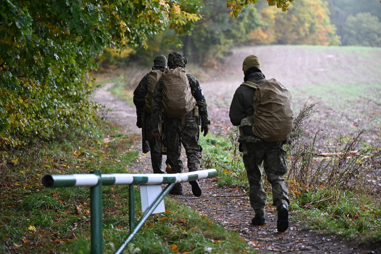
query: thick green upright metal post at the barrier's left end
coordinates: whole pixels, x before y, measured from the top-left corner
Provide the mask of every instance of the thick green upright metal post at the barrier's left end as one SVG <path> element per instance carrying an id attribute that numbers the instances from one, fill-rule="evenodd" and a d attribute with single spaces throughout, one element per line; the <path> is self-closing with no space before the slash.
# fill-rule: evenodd
<path id="1" fill-rule="evenodd" d="M 98 184 L 90 187 L 91 254 L 102 254 L 102 177 L 101 171 L 94 171 Z"/>

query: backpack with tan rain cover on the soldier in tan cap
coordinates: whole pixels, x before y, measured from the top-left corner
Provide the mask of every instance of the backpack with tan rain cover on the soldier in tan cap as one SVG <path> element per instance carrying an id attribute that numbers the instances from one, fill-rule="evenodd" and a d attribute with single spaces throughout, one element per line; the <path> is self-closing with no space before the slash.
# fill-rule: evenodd
<path id="1" fill-rule="evenodd" d="M 256 88 L 253 97 L 253 134 L 266 142 L 281 142 L 290 137 L 293 122 L 291 93 L 274 78 L 257 85 L 245 81 L 243 85 Z"/>

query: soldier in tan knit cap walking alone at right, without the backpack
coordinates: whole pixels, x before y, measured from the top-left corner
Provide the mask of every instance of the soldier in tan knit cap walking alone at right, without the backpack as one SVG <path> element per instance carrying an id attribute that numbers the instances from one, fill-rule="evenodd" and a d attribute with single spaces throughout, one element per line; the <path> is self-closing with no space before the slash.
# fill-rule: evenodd
<path id="1" fill-rule="evenodd" d="M 243 61 L 244 81 L 251 81 L 261 85 L 266 81 L 261 72 L 259 59 L 250 55 Z M 245 142 L 247 154 L 243 155 L 243 163 L 247 170 L 247 178 L 250 184 L 250 204 L 255 210 L 255 217 L 251 223 L 253 225 L 266 224 L 266 215 L 264 206 L 266 205 L 266 192 L 262 186 L 262 163 L 267 180 L 272 186 L 273 204 L 277 206 L 278 221 L 277 229 L 284 232 L 288 227 L 288 189 L 285 185 L 284 174 L 287 173 L 287 164 L 285 161 L 286 151 L 283 148 L 284 142 L 267 143 L 254 136 L 252 132 L 253 123 L 249 120 L 253 117 L 253 96 L 255 88 L 240 85 L 235 91 L 230 106 L 229 117 L 234 126 L 240 125 L 244 136 L 251 138 Z M 241 143 L 242 145 L 242 143 Z"/>

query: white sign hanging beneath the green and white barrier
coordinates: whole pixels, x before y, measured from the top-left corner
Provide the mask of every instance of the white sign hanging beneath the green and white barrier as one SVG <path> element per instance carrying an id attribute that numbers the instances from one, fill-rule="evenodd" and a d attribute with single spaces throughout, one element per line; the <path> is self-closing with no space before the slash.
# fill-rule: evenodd
<path id="1" fill-rule="evenodd" d="M 146 212 L 155 199 L 162 193 L 162 185 L 140 185 L 140 200 L 142 203 L 142 212 Z M 160 201 L 152 213 L 165 212 L 164 200 Z"/>

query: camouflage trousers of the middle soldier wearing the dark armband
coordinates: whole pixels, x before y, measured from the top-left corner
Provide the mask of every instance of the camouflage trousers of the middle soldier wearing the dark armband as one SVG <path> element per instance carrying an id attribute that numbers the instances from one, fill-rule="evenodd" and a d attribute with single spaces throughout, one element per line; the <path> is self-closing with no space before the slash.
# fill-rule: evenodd
<path id="1" fill-rule="evenodd" d="M 189 172 L 200 170 L 201 151 L 199 145 L 199 125 L 192 111 L 185 116 L 184 125 L 182 118 L 166 118 L 164 128 L 164 142 L 167 147 L 167 160 L 172 167 L 172 173 L 181 173 L 183 164 L 181 160 L 181 144 L 185 148 Z M 180 189 L 182 184 L 173 188 Z"/>

